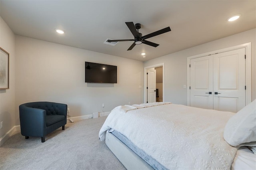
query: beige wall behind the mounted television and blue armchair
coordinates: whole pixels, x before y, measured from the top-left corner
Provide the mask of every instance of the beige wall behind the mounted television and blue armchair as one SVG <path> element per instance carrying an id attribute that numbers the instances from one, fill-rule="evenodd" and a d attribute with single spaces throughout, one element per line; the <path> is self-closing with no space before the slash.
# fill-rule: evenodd
<path id="1" fill-rule="evenodd" d="M 15 42 L 16 113 L 18 105 L 32 101 L 66 103 L 71 117 L 100 112 L 102 103 L 108 112 L 118 105 L 143 102 L 141 61 L 22 36 Z M 85 61 L 117 65 L 118 83 L 85 83 Z"/>

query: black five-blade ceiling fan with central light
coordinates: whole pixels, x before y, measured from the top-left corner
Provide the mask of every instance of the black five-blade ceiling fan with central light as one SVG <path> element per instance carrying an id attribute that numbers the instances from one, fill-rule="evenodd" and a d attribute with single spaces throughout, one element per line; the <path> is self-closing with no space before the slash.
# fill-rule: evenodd
<path id="1" fill-rule="evenodd" d="M 134 36 L 134 39 L 128 39 L 128 40 L 108 40 L 107 42 L 125 42 L 125 41 L 134 41 L 134 43 L 127 49 L 131 50 L 135 45 L 144 43 L 153 47 L 157 47 L 159 44 L 157 43 L 153 43 L 153 42 L 149 42 L 146 39 L 154 37 L 154 36 L 158 36 L 160 34 L 164 34 L 166 32 L 171 31 L 170 27 L 166 27 L 162 30 L 158 30 L 156 32 L 152 32 L 146 36 L 142 36 L 142 34 L 139 32 L 139 29 L 141 28 L 141 24 L 137 23 L 137 24 L 133 24 L 133 22 L 126 22 L 125 23 L 128 28 L 130 29 L 130 31 L 132 32 L 132 35 Z"/>

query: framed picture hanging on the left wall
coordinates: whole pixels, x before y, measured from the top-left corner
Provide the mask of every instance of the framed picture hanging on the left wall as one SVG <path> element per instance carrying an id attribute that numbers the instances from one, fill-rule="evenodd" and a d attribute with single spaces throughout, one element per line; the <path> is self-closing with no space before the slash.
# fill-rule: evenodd
<path id="1" fill-rule="evenodd" d="M 9 89 L 9 53 L 0 47 L 0 90 Z"/>

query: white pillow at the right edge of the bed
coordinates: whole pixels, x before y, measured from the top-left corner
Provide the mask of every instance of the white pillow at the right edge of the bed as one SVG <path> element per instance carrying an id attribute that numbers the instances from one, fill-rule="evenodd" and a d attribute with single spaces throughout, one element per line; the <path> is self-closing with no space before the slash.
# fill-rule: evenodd
<path id="1" fill-rule="evenodd" d="M 231 146 L 256 146 L 256 99 L 228 120 L 224 139 Z"/>

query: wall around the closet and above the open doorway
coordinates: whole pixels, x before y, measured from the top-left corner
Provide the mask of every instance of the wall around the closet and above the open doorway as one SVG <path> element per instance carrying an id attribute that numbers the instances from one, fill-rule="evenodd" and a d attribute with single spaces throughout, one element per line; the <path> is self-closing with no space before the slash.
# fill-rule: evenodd
<path id="1" fill-rule="evenodd" d="M 183 89 L 187 81 L 187 57 L 248 42 L 252 43 L 252 100 L 254 100 L 256 99 L 256 29 L 145 61 L 144 67 L 164 63 L 164 101 L 187 105 L 187 93 L 186 89 Z"/>

